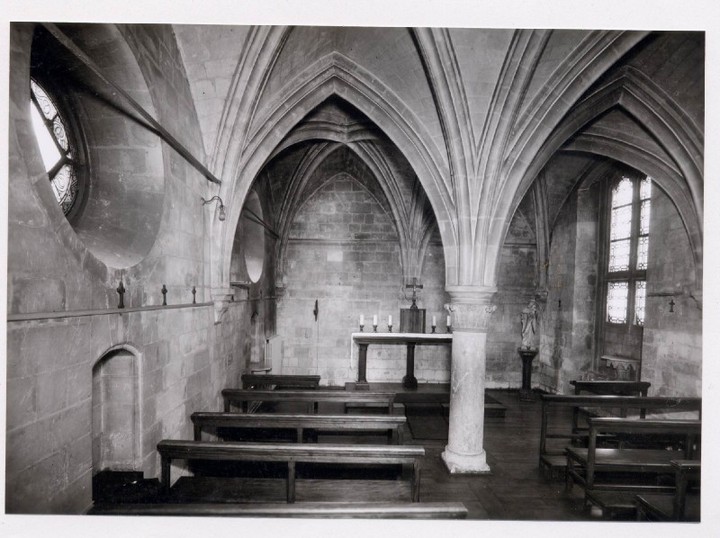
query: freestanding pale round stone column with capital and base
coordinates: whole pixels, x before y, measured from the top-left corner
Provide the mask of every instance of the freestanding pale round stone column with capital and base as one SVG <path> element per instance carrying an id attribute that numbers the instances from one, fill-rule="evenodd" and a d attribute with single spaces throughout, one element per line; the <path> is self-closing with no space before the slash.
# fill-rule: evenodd
<path id="1" fill-rule="evenodd" d="M 451 473 L 485 473 L 485 344 L 495 288 L 452 286 L 453 343 L 450 363 L 450 430 L 442 453 Z"/>

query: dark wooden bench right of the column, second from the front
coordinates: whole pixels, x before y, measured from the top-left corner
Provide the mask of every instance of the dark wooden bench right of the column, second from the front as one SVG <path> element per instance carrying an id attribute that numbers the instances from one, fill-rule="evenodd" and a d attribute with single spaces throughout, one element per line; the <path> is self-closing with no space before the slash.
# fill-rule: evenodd
<path id="1" fill-rule="evenodd" d="M 643 480 L 657 478 L 660 474 L 673 472 L 672 461 L 691 459 L 696 453 L 700 438 L 699 420 L 642 420 L 624 418 L 591 418 L 587 448 L 567 447 L 566 480 L 568 491 L 574 483 L 586 492 L 603 491 L 650 491 L 672 492 L 672 486 L 664 486 Z M 682 435 L 686 438 L 683 451 L 643 448 L 598 448 L 599 435 L 633 434 L 636 436 Z M 621 480 L 616 478 L 622 474 Z M 587 497 L 586 497 L 587 498 Z"/>

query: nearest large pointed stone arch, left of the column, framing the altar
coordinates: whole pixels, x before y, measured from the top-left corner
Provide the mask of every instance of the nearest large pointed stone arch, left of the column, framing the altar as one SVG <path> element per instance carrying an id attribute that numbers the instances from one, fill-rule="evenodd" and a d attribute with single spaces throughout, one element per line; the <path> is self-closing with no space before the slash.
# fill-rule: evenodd
<path id="1" fill-rule="evenodd" d="M 294 77 L 258 118 L 247 143 L 231 137 L 223 166 L 221 196 L 228 200 L 228 218 L 213 228 L 213 287 L 227 287 L 233 231 L 242 201 L 273 150 L 303 117 L 330 96 L 338 96 L 373 121 L 400 149 L 417 174 L 435 212 L 447 260 L 454 260 L 457 234 L 454 202 L 443 177 L 442 155 L 415 114 L 392 90 L 346 56 L 331 53 Z M 234 146 L 232 144 L 235 144 Z M 454 268 L 448 268 L 450 273 Z"/>

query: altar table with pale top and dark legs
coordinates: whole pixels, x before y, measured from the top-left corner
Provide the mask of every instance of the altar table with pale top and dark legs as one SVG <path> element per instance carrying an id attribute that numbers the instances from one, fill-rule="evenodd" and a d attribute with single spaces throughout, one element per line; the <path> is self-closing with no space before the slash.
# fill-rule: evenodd
<path id="1" fill-rule="evenodd" d="M 415 377 L 415 346 L 452 344 L 452 333 L 352 333 L 352 341 L 358 345 L 358 380 L 356 390 L 368 390 L 367 382 L 367 348 L 370 344 L 404 345 L 407 346 L 406 370 L 403 386 L 408 389 L 417 388 Z"/>

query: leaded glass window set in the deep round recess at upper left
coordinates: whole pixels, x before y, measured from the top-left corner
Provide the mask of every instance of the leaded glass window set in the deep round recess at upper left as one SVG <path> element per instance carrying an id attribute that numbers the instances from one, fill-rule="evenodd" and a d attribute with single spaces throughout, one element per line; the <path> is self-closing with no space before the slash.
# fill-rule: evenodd
<path id="1" fill-rule="evenodd" d="M 35 137 L 55 198 L 65 215 L 79 198 L 77 145 L 57 101 L 34 79 L 30 79 L 31 114 Z"/>

